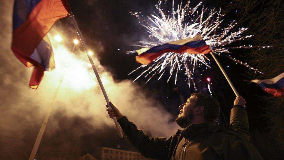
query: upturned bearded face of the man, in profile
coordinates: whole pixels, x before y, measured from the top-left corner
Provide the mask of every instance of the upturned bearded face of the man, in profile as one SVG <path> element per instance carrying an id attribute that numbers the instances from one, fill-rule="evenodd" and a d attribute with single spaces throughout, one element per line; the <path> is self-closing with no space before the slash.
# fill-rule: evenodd
<path id="1" fill-rule="evenodd" d="M 193 108 L 195 107 L 195 99 L 194 96 L 189 97 L 185 104 L 180 105 L 178 108 L 180 109 L 180 114 L 175 119 L 177 124 L 186 128 L 191 124 L 192 119 L 194 119 Z"/>

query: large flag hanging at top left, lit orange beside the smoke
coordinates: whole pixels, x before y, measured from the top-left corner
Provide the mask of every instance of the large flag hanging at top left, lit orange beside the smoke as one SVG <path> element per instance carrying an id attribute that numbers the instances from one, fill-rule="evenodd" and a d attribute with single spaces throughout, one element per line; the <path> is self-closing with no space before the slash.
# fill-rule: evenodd
<path id="1" fill-rule="evenodd" d="M 67 0 L 15 0 L 12 50 L 26 66 L 34 66 L 29 87 L 37 89 L 44 71 L 55 68 L 47 32 L 71 12 Z"/>

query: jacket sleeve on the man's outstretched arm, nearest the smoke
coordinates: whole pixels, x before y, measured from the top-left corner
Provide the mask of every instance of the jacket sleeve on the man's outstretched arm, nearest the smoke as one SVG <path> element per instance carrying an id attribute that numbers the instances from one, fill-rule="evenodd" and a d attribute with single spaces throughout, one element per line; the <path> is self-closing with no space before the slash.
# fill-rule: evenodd
<path id="1" fill-rule="evenodd" d="M 152 159 L 168 158 L 171 137 L 148 137 L 143 131 L 137 129 L 134 123 L 129 122 L 125 116 L 118 119 L 118 123 L 132 145 L 134 145 L 144 157 Z"/>

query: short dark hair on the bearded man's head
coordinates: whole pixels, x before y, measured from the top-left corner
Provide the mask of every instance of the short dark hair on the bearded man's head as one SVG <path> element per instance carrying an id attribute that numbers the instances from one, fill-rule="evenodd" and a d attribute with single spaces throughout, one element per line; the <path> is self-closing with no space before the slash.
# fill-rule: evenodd
<path id="1" fill-rule="evenodd" d="M 212 96 L 204 93 L 193 93 L 195 106 L 204 107 L 204 118 L 207 122 L 215 122 L 220 114 L 220 105 Z"/>

